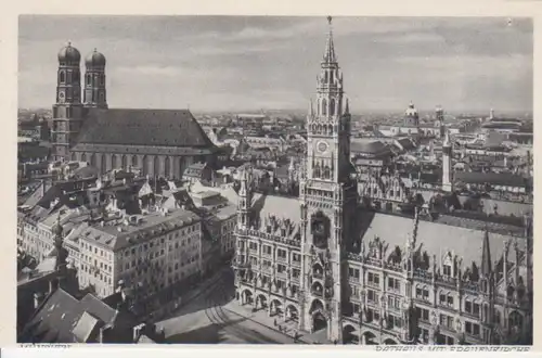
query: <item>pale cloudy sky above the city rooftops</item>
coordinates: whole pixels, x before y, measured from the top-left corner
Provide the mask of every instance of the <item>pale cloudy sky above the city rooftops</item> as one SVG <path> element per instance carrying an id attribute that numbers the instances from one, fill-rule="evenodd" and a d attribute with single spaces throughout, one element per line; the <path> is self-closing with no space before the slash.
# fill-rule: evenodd
<path id="1" fill-rule="evenodd" d="M 354 113 L 411 100 L 532 111 L 530 20 L 335 17 L 333 29 Z M 326 33 L 324 17 L 22 16 L 20 106 L 52 105 L 69 40 L 82 57 L 105 54 L 109 107 L 306 108 Z"/>

